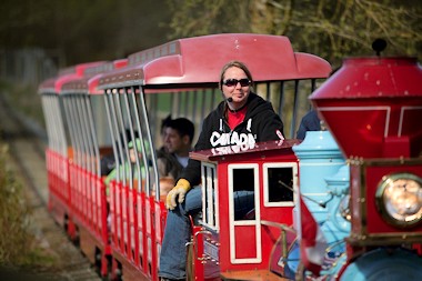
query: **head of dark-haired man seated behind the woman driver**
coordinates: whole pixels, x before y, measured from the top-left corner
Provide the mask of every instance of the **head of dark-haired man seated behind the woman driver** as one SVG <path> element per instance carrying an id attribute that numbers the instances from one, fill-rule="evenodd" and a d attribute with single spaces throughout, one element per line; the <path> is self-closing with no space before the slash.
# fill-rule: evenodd
<path id="1" fill-rule="evenodd" d="M 185 118 L 171 120 L 167 124 L 164 145 L 170 153 L 187 154 L 194 136 L 193 123 Z"/>

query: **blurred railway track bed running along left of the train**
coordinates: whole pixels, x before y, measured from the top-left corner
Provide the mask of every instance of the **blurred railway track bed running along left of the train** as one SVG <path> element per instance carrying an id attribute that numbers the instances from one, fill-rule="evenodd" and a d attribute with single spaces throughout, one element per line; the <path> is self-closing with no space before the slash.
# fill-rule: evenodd
<path id="1" fill-rule="evenodd" d="M 64 231 L 48 212 L 46 143 L 42 140 L 42 130 L 14 112 L 1 93 L 0 130 L 3 141 L 10 148 L 13 160 L 11 167 L 22 179 L 28 194 L 27 200 L 32 209 L 31 231 L 53 259 L 53 265 L 42 269 L 42 272 L 37 269 L 0 269 L 0 280 L 101 280 L 88 259 L 68 240 Z"/>

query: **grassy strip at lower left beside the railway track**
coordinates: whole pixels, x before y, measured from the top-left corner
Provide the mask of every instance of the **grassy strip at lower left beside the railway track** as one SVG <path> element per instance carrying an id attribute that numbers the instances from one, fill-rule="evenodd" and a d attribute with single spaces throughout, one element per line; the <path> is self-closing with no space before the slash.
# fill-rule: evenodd
<path id="1" fill-rule="evenodd" d="M 54 257 L 36 237 L 33 210 L 10 162 L 9 145 L 0 141 L 0 269 L 44 271 L 54 268 Z"/>

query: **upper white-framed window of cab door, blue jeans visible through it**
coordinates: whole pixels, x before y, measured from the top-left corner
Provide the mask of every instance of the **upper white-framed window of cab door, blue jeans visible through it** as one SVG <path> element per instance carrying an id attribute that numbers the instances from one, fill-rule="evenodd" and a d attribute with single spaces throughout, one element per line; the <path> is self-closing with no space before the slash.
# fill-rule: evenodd
<path id="1" fill-rule="evenodd" d="M 234 221 L 255 219 L 258 183 L 258 164 L 229 165 L 229 208 Z"/>

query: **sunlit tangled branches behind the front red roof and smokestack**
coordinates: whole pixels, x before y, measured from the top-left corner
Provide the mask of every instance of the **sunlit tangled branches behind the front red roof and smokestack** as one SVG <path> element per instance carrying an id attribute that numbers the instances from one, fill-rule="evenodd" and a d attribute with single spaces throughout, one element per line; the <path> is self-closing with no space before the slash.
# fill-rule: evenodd
<path id="1" fill-rule="evenodd" d="M 290 38 L 297 51 L 315 53 L 334 68 L 344 57 L 373 56 L 383 38 L 385 56 L 422 59 L 422 2 L 399 0 L 169 0 L 172 38 L 257 32 Z"/>

